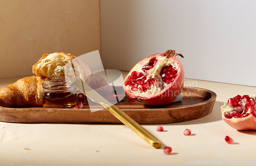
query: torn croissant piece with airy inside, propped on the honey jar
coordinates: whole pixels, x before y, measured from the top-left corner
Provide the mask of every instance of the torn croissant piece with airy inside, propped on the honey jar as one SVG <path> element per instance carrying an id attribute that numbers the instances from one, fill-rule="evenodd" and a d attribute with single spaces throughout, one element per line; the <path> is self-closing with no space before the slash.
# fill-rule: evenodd
<path id="1" fill-rule="evenodd" d="M 113 94 L 113 88 L 108 85 L 102 76 L 95 73 L 86 63 L 76 56 L 73 56 L 71 53 L 54 52 L 44 54 L 40 60 L 33 65 L 32 71 L 39 77 L 55 77 L 64 80 L 66 64 L 74 64 L 77 69 L 76 73 L 79 73 L 78 76 L 101 95 Z"/>

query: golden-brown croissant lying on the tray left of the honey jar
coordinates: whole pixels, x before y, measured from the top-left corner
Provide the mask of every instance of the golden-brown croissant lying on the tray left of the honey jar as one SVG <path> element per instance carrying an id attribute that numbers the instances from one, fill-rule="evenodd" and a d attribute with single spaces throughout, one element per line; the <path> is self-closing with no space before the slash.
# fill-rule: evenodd
<path id="1" fill-rule="evenodd" d="M 42 78 L 30 76 L 1 88 L 0 106 L 42 105 L 42 82 Z"/>

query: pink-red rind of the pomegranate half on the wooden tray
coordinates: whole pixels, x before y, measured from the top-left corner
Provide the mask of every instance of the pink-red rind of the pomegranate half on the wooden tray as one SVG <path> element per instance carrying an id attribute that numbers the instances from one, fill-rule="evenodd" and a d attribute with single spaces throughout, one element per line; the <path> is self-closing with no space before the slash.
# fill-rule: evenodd
<path id="1" fill-rule="evenodd" d="M 127 76 L 124 78 L 123 82 L 125 82 L 127 80 L 127 77 L 129 75 L 131 75 L 131 73 L 133 71 L 140 70 L 151 59 L 154 59 L 154 58 L 158 59 L 158 57 L 163 57 L 166 53 L 168 53 L 168 51 L 170 51 L 170 50 L 167 50 L 164 53 L 153 54 L 153 55 L 145 58 L 144 60 L 138 62 L 131 69 L 131 71 L 127 74 Z M 134 100 L 136 100 L 140 103 L 146 104 L 146 105 L 167 105 L 167 104 L 174 102 L 175 99 L 180 95 L 180 93 L 184 87 L 184 68 L 183 68 L 181 62 L 178 59 L 176 59 L 177 55 L 178 54 L 175 53 L 172 57 L 167 59 L 167 61 L 168 61 L 168 63 L 175 63 L 177 65 L 177 68 L 179 70 L 178 74 L 177 74 L 175 80 L 171 84 L 167 85 L 161 92 L 158 92 L 151 96 L 135 94 L 131 89 L 127 88 L 127 86 L 125 86 L 123 83 L 123 89 L 124 89 L 125 93 L 127 95 L 129 95 L 131 98 L 133 98 Z M 161 71 L 161 69 L 158 69 L 158 70 Z M 158 71 L 158 72 L 160 73 L 160 71 Z"/>

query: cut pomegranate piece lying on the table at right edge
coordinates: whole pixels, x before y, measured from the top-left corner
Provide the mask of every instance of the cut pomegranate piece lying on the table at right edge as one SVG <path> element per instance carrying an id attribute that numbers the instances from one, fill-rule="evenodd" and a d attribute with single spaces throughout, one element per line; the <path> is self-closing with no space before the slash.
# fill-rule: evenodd
<path id="1" fill-rule="evenodd" d="M 221 106 L 222 119 L 237 130 L 256 130 L 256 95 L 237 95 Z"/>

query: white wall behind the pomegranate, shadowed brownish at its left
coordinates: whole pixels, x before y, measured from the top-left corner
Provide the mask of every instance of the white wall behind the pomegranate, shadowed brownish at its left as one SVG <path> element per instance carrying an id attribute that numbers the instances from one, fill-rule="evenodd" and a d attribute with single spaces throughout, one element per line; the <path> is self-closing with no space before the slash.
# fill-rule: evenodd
<path id="1" fill-rule="evenodd" d="M 105 68 L 129 71 L 175 49 L 186 78 L 256 86 L 256 1 L 101 0 L 100 7 Z"/>

